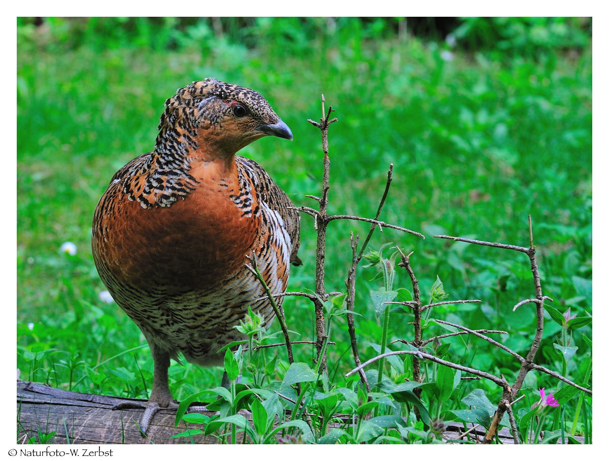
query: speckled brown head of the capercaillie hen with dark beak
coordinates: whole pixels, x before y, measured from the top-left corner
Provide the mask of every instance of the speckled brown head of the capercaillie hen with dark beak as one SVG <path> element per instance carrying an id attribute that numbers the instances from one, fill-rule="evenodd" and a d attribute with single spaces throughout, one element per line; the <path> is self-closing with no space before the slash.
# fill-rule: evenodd
<path id="1" fill-rule="evenodd" d="M 178 89 L 166 100 L 158 128 L 157 151 L 178 153 L 202 148 L 231 156 L 263 136 L 292 139 L 261 94 L 214 78 Z"/>

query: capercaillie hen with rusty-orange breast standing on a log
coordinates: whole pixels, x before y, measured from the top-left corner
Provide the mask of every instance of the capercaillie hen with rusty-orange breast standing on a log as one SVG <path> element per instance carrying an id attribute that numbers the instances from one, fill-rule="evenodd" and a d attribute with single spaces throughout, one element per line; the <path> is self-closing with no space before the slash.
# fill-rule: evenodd
<path id="1" fill-rule="evenodd" d="M 175 407 L 170 358 L 181 352 L 195 364 L 220 364 L 217 351 L 242 339 L 233 327 L 248 306 L 272 320 L 248 257 L 272 293 L 285 291 L 290 262 L 300 264 L 292 202 L 260 165 L 236 156 L 263 136 L 292 139 L 262 95 L 195 81 L 166 100 L 158 129 L 155 150 L 111 179 L 91 243 L 99 276 L 154 359 L 144 432 L 158 409 Z"/>

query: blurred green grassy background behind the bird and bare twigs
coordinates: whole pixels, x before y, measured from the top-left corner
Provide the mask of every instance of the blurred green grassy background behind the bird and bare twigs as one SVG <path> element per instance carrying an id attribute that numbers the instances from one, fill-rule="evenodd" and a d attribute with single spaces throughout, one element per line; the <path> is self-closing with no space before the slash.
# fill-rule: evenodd
<path id="1" fill-rule="evenodd" d="M 319 195 L 320 93 L 336 109 L 329 131 L 329 211 L 373 217 L 393 162 L 381 219 L 426 240 L 385 229 L 370 249 L 414 251 L 428 292 L 439 276 L 451 299 L 478 298 L 432 314 L 509 331 L 526 352 L 535 330 L 525 255 L 431 238 L 459 235 L 528 244 L 532 215 L 544 294 L 555 308 L 590 313 L 592 291 L 592 40 L 590 18 L 19 18 L 18 367 L 24 380 L 81 392 L 144 397 L 152 359 L 138 328 L 105 290 L 90 251 L 91 220 L 113 173 L 154 147 L 163 102 L 205 77 L 253 88 L 292 128 L 294 141 L 263 139 L 251 157 L 297 205 Z M 303 216 L 289 288 L 314 289 L 315 234 Z M 343 291 L 349 232 L 328 229 L 326 288 Z M 60 251 L 66 241 L 76 254 Z M 387 254 L 388 255 L 388 254 Z M 395 288 L 409 288 L 398 269 Z M 356 327 L 362 358 L 381 328 L 359 269 Z M 427 295 L 426 295 L 427 296 Z M 287 299 L 287 325 L 312 339 L 308 300 Z M 412 339 L 409 317 L 392 316 L 390 339 Z M 273 324 L 274 330 L 278 325 Z M 558 325 L 546 323 L 538 362 L 560 370 Z M 577 330 L 577 355 L 589 351 Z M 333 372 L 351 369 L 345 322 L 333 330 Z M 454 338 L 453 338 L 454 339 Z M 451 342 L 454 361 L 513 378 L 516 364 L 487 343 Z M 295 346 L 297 361 L 312 348 Z M 398 348 L 399 346 L 392 346 Z M 280 363 L 286 364 L 284 350 Z M 568 374 L 580 376 L 578 361 Z M 220 369 L 171 367 L 174 397 L 219 383 Z M 530 373 L 527 384 L 555 387 Z M 473 383 L 471 386 L 487 386 Z M 496 392 L 494 388 L 493 392 Z"/>

